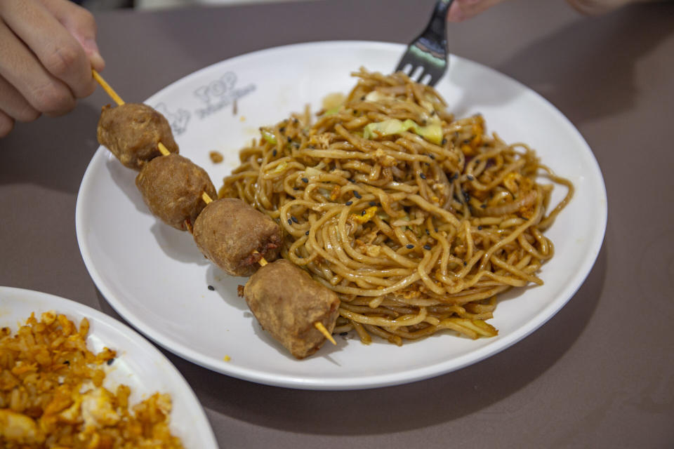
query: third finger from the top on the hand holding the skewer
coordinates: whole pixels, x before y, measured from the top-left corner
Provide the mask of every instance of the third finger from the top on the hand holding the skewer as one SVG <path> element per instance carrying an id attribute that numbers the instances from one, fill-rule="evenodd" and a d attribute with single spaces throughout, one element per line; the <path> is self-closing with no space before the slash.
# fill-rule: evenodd
<path id="1" fill-rule="evenodd" d="M 1 4 L 6 4 L 0 1 Z M 70 88 L 47 72 L 34 53 L 0 20 L 0 76 L 29 104 L 48 115 L 60 115 L 75 107 Z"/>

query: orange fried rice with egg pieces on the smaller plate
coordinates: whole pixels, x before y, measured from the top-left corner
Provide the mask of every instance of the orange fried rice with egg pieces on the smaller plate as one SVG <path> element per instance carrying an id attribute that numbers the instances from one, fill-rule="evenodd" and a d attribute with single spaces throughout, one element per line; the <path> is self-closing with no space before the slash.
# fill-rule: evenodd
<path id="1" fill-rule="evenodd" d="M 129 404 L 131 389 L 103 386 L 117 356 L 86 347 L 79 327 L 53 311 L 31 314 L 13 334 L 0 329 L 0 447 L 5 449 L 183 448 L 169 429 L 171 396 Z"/>

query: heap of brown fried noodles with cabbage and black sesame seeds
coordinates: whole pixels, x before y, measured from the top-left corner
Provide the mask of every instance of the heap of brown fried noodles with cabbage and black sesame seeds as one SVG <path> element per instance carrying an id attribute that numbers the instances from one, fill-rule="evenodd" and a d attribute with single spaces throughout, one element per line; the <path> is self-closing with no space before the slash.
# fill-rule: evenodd
<path id="1" fill-rule="evenodd" d="M 455 119 L 430 86 L 360 69 L 341 102 L 307 109 L 239 153 L 220 196 L 284 229 L 282 255 L 338 293 L 335 333 L 395 344 L 442 329 L 496 335 L 496 295 L 542 284 L 543 232 L 574 188 L 524 143 Z M 550 210 L 552 184 L 567 194 Z M 549 211 L 548 211 L 549 210 Z"/>

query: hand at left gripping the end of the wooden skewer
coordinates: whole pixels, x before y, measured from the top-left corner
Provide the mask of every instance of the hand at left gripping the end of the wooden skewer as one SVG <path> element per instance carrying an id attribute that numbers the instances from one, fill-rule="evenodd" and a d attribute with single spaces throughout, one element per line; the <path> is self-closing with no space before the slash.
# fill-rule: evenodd
<path id="1" fill-rule="evenodd" d="M 0 0 L 0 138 L 91 95 L 105 62 L 93 15 L 68 0 Z"/>

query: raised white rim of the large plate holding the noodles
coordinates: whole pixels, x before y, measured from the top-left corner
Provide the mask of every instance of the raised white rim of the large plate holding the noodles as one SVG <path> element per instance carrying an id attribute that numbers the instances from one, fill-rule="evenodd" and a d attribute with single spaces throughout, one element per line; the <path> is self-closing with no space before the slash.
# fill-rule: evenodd
<path id="1" fill-rule="evenodd" d="M 215 62 L 206 67 L 202 67 L 195 72 L 187 74 L 176 81 L 173 81 L 164 88 L 161 88 L 156 93 L 152 94 L 149 98 L 144 100 L 145 103 L 156 101 L 158 97 L 161 97 L 166 91 L 169 91 L 172 88 L 175 88 L 176 85 L 180 83 L 189 83 L 191 79 L 201 76 L 203 72 L 209 71 L 218 65 L 227 63 L 237 63 L 245 61 L 248 58 L 257 58 L 260 55 L 263 55 L 267 52 L 277 52 L 277 51 L 289 51 L 298 48 L 310 48 L 312 46 L 370 46 L 371 48 L 383 48 L 387 51 L 402 51 L 405 46 L 402 43 L 392 43 L 392 42 L 383 42 L 383 41 L 358 41 L 358 40 L 327 40 L 327 41 L 310 41 L 303 43 L 291 43 L 282 46 L 273 46 L 270 48 L 263 48 L 258 51 L 252 51 L 250 53 L 244 53 L 242 55 L 237 55 L 232 58 L 227 58 Z M 534 95 L 536 100 L 543 102 L 546 107 L 550 109 L 550 112 L 554 112 L 557 118 L 564 122 L 564 126 L 567 130 L 571 131 L 574 139 L 576 139 L 579 144 L 583 147 L 583 152 L 588 156 L 588 161 L 590 161 L 590 171 L 595 175 L 592 179 L 597 182 L 597 187 L 600 188 L 600 198 L 597 199 L 597 206 L 600 210 L 600 225 L 593 228 L 591 233 L 592 241 L 588 245 L 589 257 L 586 257 L 581 264 L 580 269 L 576 271 L 576 274 L 570 279 L 569 285 L 562 290 L 562 294 L 558 295 L 553 302 L 550 302 L 546 307 L 541 309 L 538 314 L 534 315 L 529 321 L 527 321 L 527 326 L 521 326 L 513 332 L 509 333 L 505 337 L 498 335 L 494 337 L 491 344 L 487 344 L 484 347 L 475 349 L 475 351 L 470 351 L 468 354 L 463 354 L 458 357 L 451 358 L 451 361 L 444 361 L 441 363 L 434 363 L 430 366 L 423 366 L 421 368 L 412 368 L 410 370 L 397 371 L 393 374 L 378 374 L 378 375 L 366 375 L 361 377 L 326 377 L 322 379 L 316 378 L 302 378 L 296 375 L 287 375 L 287 374 L 270 374 L 267 372 L 261 372 L 253 368 L 244 368 L 241 366 L 236 366 L 234 364 L 225 364 L 223 363 L 213 363 L 213 358 L 199 354 L 197 351 L 186 347 L 185 344 L 173 340 L 171 342 L 166 342 L 164 337 L 159 335 L 154 328 L 151 326 L 145 326 L 143 321 L 138 318 L 135 314 L 131 313 L 124 304 L 119 302 L 112 291 L 107 287 L 107 283 L 103 281 L 103 277 L 100 276 L 98 269 L 96 269 L 91 253 L 88 250 L 88 246 L 85 242 L 84 232 L 83 232 L 83 222 L 85 220 L 84 213 L 82 212 L 84 203 L 84 198 L 86 197 L 87 186 L 93 182 L 93 175 L 91 174 L 94 170 L 96 161 L 103 159 L 105 160 L 109 157 L 109 152 L 104 147 L 98 147 L 97 151 L 93 155 L 91 161 L 89 162 L 84 176 L 81 181 L 81 185 L 77 194 L 77 203 L 75 210 L 75 222 L 76 222 L 76 231 L 77 231 L 77 241 L 80 248 L 81 255 L 86 265 L 93 282 L 95 283 L 96 288 L 100 290 L 105 300 L 111 305 L 111 307 L 119 313 L 120 316 L 124 318 L 131 326 L 136 328 L 141 334 L 145 335 L 147 338 L 155 342 L 164 349 L 170 351 L 185 360 L 192 363 L 196 363 L 199 366 L 213 370 L 217 373 L 230 375 L 232 377 L 237 377 L 242 380 L 248 380 L 251 382 L 256 382 L 260 384 L 267 384 L 276 387 L 286 387 L 294 389 L 311 389 L 311 390 L 355 390 L 355 389 L 371 389 L 378 387 L 388 387 L 397 384 L 407 384 L 411 382 L 416 382 L 418 380 L 425 380 L 431 377 L 436 377 L 439 375 L 447 374 L 465 366 L 472 365 L 473 363 L 480 362 L 485 358 L 489 358 L 498 352 L 501 352 L 513 344 L 524 339 L 531 333 L 534 333 L 538 328 L 547 323 L 550 319 L 557 314 L 564 305 L 571 300 L 571 297 L 574 297 L 579 288 L 583 285 L 587 276 L 590 274 L 592 267 L 594 266 L 597 257 L 602 248 L 604 241 L 604 236 L 606 232 L 606 224 L 608 217 L 607 210 L 607 193 L 604 182 L 604 177 L 602 175 L 599 163 L 595 157 L 595 154 L 592 152 L 592 149 L 581 135 L 580 131 L 574 126 L 573 123 L 565 116 L 552 102 L 544 98 L 541 94 L 534 91 L 532 88 L 524 85 L 520 81 L 513 79 L 507 74 L 498 72 L 496 69 L 482 65 L 480 62 L 475 62 L 467 58 L 463 58 L 458 55 L 450 55 L 450 58 L 454 60 L 462 60 L 463 62 L 468 62 L 471 65 L 480 67 L 480 69 L 496 74 L 503 79 L 507 79 L 511 83 L 515 83 L 522 91 L 525 91 L 529 95 Z M 596 193 L 596 192 L 595 192 Z M 531 323 L 534 323 L 531 325 Z M 301 363 L 301 362 L 298 362 Z M 431 369 L 435 368 L 435 369 Z M 430 372 L 429 372 L 430 371 Z"/>

